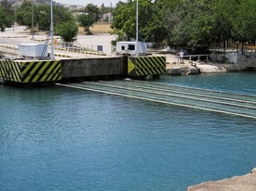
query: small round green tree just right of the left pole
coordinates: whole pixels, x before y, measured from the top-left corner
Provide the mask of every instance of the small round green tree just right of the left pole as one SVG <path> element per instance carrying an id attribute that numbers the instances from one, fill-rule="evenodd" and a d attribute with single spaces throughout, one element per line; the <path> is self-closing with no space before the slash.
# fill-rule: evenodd
<path id="1" fill-rule="evenodd" d="M 64 42 L 74 42 L 78 32 L 78 26 L 74 21 L 62 22 L 57 25 L 56 32 Z"/>

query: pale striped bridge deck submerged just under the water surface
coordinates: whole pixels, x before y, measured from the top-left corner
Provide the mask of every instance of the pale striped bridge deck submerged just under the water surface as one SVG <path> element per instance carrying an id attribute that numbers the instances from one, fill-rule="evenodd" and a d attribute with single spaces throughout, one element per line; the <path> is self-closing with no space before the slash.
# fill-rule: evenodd
<path id="1" fill-rule="evenodd" d="M 58 83 L 58 85 L 256 119 L 256 96 L 134 80 Z"/>

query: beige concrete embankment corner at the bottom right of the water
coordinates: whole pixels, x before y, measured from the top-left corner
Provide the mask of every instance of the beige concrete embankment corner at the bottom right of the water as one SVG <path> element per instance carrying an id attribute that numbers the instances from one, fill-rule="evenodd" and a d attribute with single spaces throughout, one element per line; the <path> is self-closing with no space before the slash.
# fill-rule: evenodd
<path id="1" fill-rule="evenodd" d="M 221 181 L 209 181 L 199 185 L 192 185 L 187 191 L 255 191 L 256 168 L 243 176 L 235 176 Z"/>

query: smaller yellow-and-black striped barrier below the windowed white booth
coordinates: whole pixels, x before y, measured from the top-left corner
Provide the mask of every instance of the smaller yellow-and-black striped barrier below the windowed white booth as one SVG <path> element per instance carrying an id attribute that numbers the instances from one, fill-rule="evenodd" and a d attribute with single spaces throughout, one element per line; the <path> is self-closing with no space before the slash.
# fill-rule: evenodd
<path id="1" fill-rule="evenodd" d="M 166 57 L 128 57 L 128 75 L 147 76 L 166 73 Z"/>

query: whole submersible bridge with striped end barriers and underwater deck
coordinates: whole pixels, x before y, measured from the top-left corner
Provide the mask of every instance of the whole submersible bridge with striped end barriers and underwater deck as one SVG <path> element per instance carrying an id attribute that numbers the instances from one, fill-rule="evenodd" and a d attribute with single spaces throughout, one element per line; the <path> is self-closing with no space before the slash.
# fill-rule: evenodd
<path id="1" fill-rule="evenodd" d="M 81 91 L 256 119 L 256 96 L 138 80 L 166 73 L 165 57 L 92 57 L 60 60 L 1 59 L 0 78 L 18 85 L 55 83 Z M 101 81 L 119 79 L 114 81 Z M 93 80 L 93 81 L 91 81 Z M 75 82 L 75 83 L 74 83 Z"/>

